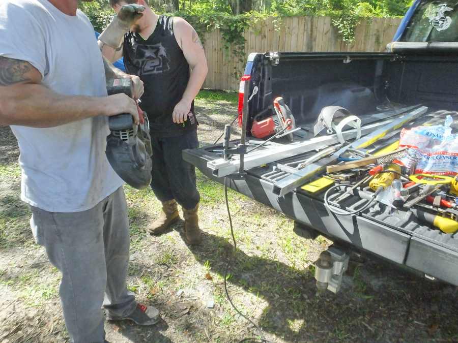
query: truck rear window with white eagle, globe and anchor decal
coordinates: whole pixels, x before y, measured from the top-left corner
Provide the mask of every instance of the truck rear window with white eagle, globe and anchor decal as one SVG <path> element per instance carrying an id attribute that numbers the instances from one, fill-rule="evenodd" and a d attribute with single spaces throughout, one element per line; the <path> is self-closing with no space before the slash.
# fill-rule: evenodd
<path id="1" fill-rule="evenodd" d="M 403 42 L 457 42 L 458 1 L 423 1 L 406 27 Z"/>

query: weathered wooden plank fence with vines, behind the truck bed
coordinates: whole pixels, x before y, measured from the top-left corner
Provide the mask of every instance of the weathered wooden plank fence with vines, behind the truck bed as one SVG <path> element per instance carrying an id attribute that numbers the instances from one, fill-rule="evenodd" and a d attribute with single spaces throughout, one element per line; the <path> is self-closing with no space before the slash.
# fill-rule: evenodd
<path id="1" fill-rule="evenodd" d="M 342 42 L 330 17 L 287 17 L 276 30 L 269 18 L 244 33 L 244 61 L 224 49 L 219 30 L 204 37 L 209 72 L 205 88 L 238 90 L 246 58 L 250 52 L 266 51 L 384 51 L 400 18 L 371 18 L 356 27 L 351 45 Z M 237 76 L 235 76 L 235 74 Z"/>

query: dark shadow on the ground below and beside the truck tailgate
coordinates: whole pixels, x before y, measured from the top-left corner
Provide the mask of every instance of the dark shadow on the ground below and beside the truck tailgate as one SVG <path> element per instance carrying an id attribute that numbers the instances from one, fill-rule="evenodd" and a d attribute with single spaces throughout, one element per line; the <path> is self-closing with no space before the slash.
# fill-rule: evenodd
<path id="1" fill-rule="evenodd" d="M 184 238 L 183 232 L 181 235 Z M 202 245 L 188 247 L 199 263 L 210 261 L 211 271 L 223 277 L 232 244 L 204 233 Z M 412 317 L 402 315 L 405 311 L 413 318 L 425 318 L 425 325 L 430 325 L 430 321 L 441 323 L 444 327 L 441 338 L 450 339 L 458 334 L 458 327 L 451 320 L 454 306 L 447 301 L 451 286 L 425 282 L 380 261 L 369 262 L 364 269 L 367 275 L 363 279 L 347 275 L 337 295 L 330 292 L 317 295 L 311 270 L 248 256 L 238 249 L 228 285 L 241 287 L 266 301 L 268 305 L 263 309 L 259 325 L 264 331 L 289 341 L 397 341 L 406 337 L 407 332 L 414 339 L 410 341 L 431 338 L 426 329 L 418 330 L 412 324 Z M 380 288 L 374 286 L 377 282 Z M 240 299 L 235 300 L 238 303 Z M 437 303 L 441 304 L 441 310 L 432 314 L 428 309 Z M 369 324 L 361 323 L 364 320 L 373 327 L 368 329 Z M 387 326 L 390 330 L 385 330 Z"/>

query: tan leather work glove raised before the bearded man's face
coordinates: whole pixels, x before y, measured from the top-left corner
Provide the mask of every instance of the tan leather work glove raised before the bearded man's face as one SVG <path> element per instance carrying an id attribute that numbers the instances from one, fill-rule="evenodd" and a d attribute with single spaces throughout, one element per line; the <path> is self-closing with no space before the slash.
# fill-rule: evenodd
<path id="1" fill-rule="evenodd" d="M 143 16 L 145 7 L 137 4 L 124 5 L 99 36 L 99 41 L 113 49 L 119 49 L 124 34 Z"/>

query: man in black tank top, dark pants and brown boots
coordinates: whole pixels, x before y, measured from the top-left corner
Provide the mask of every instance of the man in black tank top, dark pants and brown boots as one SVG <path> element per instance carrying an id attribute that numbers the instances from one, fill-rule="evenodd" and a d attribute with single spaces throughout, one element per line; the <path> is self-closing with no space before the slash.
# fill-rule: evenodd
<path id="1" fill-rule="evenodd" d="M 110 0 L 110 5 L 120 21 L 129 15 L 139 17 L 130 28 L 108 26 L 101 37 L 110 40 L 100 39 L 99 45 L 111 61 L 124 56 L 126 70 L 145 85 L 140 107 L 150 121 L 151 188 L 162 202 L 162 212 L 148 230 L 153 235 L 162 234 L 178 221 L 178 202 L 183 209 L 186 239 L 197 244 L 202 239 L 197 217 L 200 196 L 195 168 L 183 161 L 182 150 L 198 147 L 194 98 L 207 76 L 204 48 L 186 20 L 158 16 L 147 0 Z"/>

